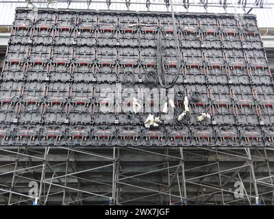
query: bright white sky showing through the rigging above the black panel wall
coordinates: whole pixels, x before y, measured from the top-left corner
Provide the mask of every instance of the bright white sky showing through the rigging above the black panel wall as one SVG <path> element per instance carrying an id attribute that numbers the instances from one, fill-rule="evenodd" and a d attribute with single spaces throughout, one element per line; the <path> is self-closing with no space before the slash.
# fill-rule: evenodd
<path id="1" fill-rule="evenodd" d="M 0 25 L 12 25 L 12 22 L 14 20 L 14 10 L 16 7 L 26 7 L 27 4 L 25 3 L 25 0 L 10 0 L 13 1 L 13 3 L 5 3 L 7 0 L 1 0 L 0 1 Z M 33 0 L 33 1 L 43 1 L 43 0 Z M 45 1 L 45 0 L 44 0 Z M 65 1 L 65 0 L 63 0 Z M 91 3 L 90 9 L 92 10 L 108 10 L 105 0 L 101 0 L 104 3 Z M 110 5 L 110 10 L 127 10 L 125 3 L 114 3 L 114 2 L 125 2 L 125 0 L 112 0 L 112 4 Z M 134 4 L 134 3 L 140 3 L 145 2 L 146 0 L 131 0 L 132 5 L 129 6 L 129 10 L 134 11 L 147 11 L 147 8 L 145 5 L 140 4 Z M 164 3 L 164 0 L 150 0 L 151 3 L 155 2 L 162 2 Z M 199 0 L 190 0 L 191 2 L 198 5 Z M 238 0 L 227 0 L 229 3 L 235 3 L 238 2 Z M 255 0 L 247 0 L 249 3 L 253 3 Z M 269 7 L 274 6 L 273 0 L 265 0 L 265 5 Z M 182 0 L 173 0 L 173 3 L 182 3 Z M 208 3 L 219 3 L 219 0 L 208 0 Z M 267 5 L 269 4 L 269 5 Z M 40 8 L 46 8 L 46 3 L 40 3 Z M 49 5 L 50 8 L 67 8 L 67 3 L 51 3 Z M 76 9 L 87 9 L 86 3 L 71 3 L 69 8 L 76 8 Z M 166 12 L 166 7 L 164 5 L 151 5 L 150 7 L 151 11 L 164 11 Z M 183 6 L 175 6 L 176 12 L 186 12 L 186 9 Z M 206 12 L 206 10 L 203 7 L 197 7 L 197 6 L 190 6 L 190 9 L 188 12 Z M 225 10 L 223 8 L 216 8 L 216 7 L 210 7 L 208 8 L 208 12 L 210 13 L 225 13 Z M 244 12 L 240 8 L 227 8 L 228 13 L 242 13 Z M 253 9 L 251 12 L 253 14 L 256 14 L 258 17 L 258 24 L 260 27 L 274 27 L 274 9 Z"/>

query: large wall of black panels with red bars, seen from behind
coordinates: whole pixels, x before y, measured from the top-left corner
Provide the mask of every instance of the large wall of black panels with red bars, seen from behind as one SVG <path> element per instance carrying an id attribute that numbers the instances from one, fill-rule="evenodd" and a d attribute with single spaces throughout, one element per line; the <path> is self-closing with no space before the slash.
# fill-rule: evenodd
<path id="1" fill-rule="evenodd" d="M 175 14 L 175 25 L 179 64 L 170 13 L 16 10 L 1 73 L 1 145 L 273 146 L 273 78 L 256 18 Z M 164 123 L 147 129 L 138 91 L 160 88 L 160 38 L 167 82 L 179 65 L 176 108 L 172 118 L 155 113 Z M 106 88 L 121 98 L 102 101 Z M 178 121 L 182 96 L 190 115 Z M 119 103 L 122 112 L 108 111 Z M 210 119 L 199 122 L 202 113 Z"/>

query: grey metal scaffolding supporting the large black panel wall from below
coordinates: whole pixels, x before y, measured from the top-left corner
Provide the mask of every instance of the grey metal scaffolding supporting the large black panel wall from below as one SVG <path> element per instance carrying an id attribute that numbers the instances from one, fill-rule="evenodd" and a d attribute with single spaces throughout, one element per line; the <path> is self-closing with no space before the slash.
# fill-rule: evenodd
<path id="1" fill-rule="evenodd" d="M 0 204 L 274 205 L 273 172 L 269 148 L 1 147 Z"/>

